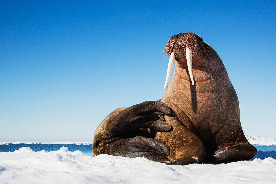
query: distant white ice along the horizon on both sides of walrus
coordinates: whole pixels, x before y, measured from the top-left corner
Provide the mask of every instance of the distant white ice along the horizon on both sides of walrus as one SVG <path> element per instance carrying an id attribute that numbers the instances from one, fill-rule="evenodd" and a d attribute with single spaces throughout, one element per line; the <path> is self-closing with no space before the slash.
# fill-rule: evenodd
<path id="1" fill-rule="evenodd" d="M 276 145 L 276 139 L 275 138 L 263 138 L 258 135 L 246 135 L 246 138 L 248 142 L 251 144 L 255 145 Z M 1 142 L 0 145 L 11 145 L 11 144 L 79 144 L 79 145 L 89 145 L 92 144 L 92 142 L 71 142 L 71 141 L 66 141 L 66 142 Z"/>

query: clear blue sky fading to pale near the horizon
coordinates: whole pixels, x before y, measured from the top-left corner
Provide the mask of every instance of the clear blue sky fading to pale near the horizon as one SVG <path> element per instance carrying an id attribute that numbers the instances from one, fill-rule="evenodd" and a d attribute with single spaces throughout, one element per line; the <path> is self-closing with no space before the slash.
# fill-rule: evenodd
<path id="1" fill-rule="evenodd" d="M 194 32 L 237 92 L 246 135 L 276 138 L 275 1 L 0 1 L 0 142 L 91 141 L 164 93 L 163 47 Z"/>

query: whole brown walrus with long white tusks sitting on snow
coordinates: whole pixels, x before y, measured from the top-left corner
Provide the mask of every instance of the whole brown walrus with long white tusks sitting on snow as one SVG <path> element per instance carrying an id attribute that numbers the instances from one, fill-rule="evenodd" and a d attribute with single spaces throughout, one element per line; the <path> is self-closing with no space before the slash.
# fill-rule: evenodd
<path id="1" fill-rule="evenodd" d="M 172 36 L 164 53 L 170 58 L 163 97 L 109 114 L 95 131 L 94 156 L 178 165 L 253 158 L 257 150 L 245 138 L 238 97 L 216 51 L 187 32 Z"/>

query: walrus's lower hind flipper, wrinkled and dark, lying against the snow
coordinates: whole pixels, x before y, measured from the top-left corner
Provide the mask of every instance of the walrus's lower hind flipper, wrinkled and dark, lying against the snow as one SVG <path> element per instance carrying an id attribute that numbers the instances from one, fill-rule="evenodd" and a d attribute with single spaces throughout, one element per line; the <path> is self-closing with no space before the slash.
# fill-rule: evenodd
<path id="1" fill-rule="evenodd" d="M 133 138 L 120 139 L 107 144 L 103 153 L 123 157 L 146 157 L 150 161 L 165 162 L 170 153 L 163 143 L 147 137 L 137 136 Z"/>

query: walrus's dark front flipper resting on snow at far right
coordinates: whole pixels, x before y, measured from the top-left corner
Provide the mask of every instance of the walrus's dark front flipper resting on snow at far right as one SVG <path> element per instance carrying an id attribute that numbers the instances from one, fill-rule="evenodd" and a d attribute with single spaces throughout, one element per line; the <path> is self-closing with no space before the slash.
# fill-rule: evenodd
<path id="1" fill-rule="evenodd" d="M 257 153 L 256 148 L 248 142 L 221 148 L 215 152 L 214 163 L 250 160 Z"/>

